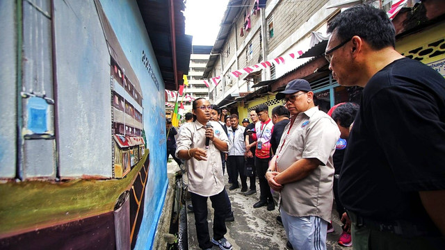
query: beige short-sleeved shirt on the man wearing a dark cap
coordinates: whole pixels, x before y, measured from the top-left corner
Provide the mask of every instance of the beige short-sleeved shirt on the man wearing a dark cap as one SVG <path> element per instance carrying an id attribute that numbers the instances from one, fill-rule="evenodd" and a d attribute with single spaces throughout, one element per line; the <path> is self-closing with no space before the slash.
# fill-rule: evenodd
<path id="1" fill-rule="evenodd" d="M 322 164 L 305 178 L 284 184 L 281 206 L 295 217 L 317 216 L 330 222 L 334 176 L 332 155 L 340 138 L 339 128 L 318 107 L 299 113 L 293 124 L 291 122 L 284 128 L 277 148 L 277 171 L 283 172 L 302 158 L 317 158 Z"/>

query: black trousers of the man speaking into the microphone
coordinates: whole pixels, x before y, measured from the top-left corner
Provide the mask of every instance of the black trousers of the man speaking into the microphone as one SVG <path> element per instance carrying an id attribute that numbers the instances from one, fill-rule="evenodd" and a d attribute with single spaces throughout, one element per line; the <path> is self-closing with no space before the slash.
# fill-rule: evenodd
<path id="1" fill-rule="evenodd" d="M 211 248 L 213 244 L 210 241 L 209 225 L 207 223 L 207 197 L 193 192 L 190 194 L 193 213 L 195 214 L 197 242 L 202 249 Z M 211 207 L 215 209 L 213 218 L 213 239 L 215 240 L 220 240 L 227 233 L 227 228 L 225 227 L 225 217 L 227 215 L 226 197 L 227 193 L 225 190 L 210 197 Z"/>

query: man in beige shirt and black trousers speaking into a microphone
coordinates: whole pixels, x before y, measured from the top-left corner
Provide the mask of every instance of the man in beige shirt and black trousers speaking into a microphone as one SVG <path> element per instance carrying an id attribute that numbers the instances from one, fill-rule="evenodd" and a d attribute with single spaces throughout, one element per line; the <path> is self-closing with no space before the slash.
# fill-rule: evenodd
<path id="1" fill-rule="evenodd" d="M 193 101 L 196 121 L 181 128 L 177 140 L 176 155 L 187 160 L 188 191 L 191 193 L 197 241 L 201 249 L 211 249 L 216 244 L 220 249 L 232 249 L 224 235 L 227 233 L 225 217 L 227 202 L 220 151 L 229 149 L 229 140 L 218 122 L 209 122 L 209 101 L 198 98 Z M 206 128 L 207 122 L 211 127 Z M 209 139 L 209 146 L 206 140 Z M 207 224 L 207 197 L 215 209 L 213 238 L 210 241 Z"/>

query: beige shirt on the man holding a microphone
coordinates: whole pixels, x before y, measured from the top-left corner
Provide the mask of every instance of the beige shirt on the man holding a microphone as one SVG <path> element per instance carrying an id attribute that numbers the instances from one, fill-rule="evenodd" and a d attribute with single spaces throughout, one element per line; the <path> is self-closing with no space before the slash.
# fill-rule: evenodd
<path id="1" fill-rule="evenodd" d="M 213 126 L 213 134 L 229 144 L 223 127 L 218 122 L 210 122 Z M 182 125 L 181 133 L 177 140 L 176 156 L 181 149 L 193 149 L 195 147 L 205 149 L 206 128 L 200 122 L 190 122 Z M 219 194 L 224 189 L 223 163 L 221 153 L 212 141 L 207 149 L 207 160 L 191 158 L 186 161 L 188 191 L 204 197 Z"/>

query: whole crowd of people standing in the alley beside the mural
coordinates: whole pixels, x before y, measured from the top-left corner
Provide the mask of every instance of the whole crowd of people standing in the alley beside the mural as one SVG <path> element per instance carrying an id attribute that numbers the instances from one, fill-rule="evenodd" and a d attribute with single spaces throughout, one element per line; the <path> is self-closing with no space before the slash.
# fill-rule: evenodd
<path id="1" fill-rule="evenodd" d="M 295 79 L 276 94 L 283 106 L 271 117 L 260 104 L 241 126 L 238 115 L 198 98 L 177 143 L 167 124 L 168 153 L 186 165 L 201 249 L 232 249 L 225 238 L 225 222 L 234 219 L 225 169 L 229 190 L 245 195 L 257 192 L 258 178 L 253 207 L 279 206 L 290 249 L 326 249 L 334 199 L 343 246 L 444 248 L 444 77 L 398 53 L 394 26 L 372 6 L 341 12 L 328 32 L 324 56 L 332 76 L 340 85 L 363 87 L 360 103 L 339 103 L 325 113 L 309 82 Z"/>

